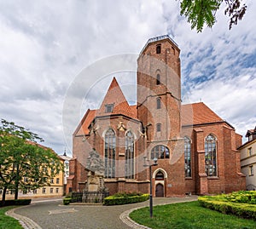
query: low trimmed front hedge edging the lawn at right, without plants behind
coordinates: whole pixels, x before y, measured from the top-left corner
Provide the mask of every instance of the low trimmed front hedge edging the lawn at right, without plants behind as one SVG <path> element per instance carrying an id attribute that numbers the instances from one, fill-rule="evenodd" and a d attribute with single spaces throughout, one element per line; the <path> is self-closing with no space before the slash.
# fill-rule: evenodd
<path id="1" fill-rule="evenodd" d="M 256 205 L 250 203 L 232 203 L 224 200 L 214 200 L 212 197 L 198 198 L 201 206 L 217 210 L 223 214 L 237 215 L 246 219 L 256 220 Z"/>

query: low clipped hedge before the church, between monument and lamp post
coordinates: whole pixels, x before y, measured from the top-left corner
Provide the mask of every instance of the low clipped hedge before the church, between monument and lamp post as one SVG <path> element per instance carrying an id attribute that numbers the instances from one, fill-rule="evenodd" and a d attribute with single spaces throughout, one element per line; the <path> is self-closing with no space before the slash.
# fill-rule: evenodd
<path id="1" fill-rule="evenodd" d="M 148 200 L 148 194 L 137 192 L 119 192 L 108 198 L 104 198 L 104 205 L 120 205 L 128 203 L 139 203 Z"/>

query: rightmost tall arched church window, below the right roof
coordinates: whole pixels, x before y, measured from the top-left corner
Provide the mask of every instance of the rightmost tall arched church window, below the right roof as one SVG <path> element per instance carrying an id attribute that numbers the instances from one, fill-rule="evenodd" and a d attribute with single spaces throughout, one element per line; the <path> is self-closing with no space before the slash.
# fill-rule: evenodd
<path id="1" fill-rule="evenodd" d="M 208 176 L 217 176 L 216 138 L 208 135 L 205 140 L 206 173 Z"/>

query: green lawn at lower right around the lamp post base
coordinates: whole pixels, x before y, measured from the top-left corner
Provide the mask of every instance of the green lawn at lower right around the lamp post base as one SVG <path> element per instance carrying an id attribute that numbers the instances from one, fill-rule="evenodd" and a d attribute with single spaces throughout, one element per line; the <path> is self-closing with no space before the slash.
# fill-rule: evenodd
<path id="1" fill-rule="evenodd" d="M 256 221 L 245 220 L 234 215 L 224 215 L 205 209 L 197 201 L 155 206 L 154 217 L 150 219 L 149 209 L 137 209 L 130 217 L 137 223 L 150 228 L 161 229 L 255 229 Z"/>

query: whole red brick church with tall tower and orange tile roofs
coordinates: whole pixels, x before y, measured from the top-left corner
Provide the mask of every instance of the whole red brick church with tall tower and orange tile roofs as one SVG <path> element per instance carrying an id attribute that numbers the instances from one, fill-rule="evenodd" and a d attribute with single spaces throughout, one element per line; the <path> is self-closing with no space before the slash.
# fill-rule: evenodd
<path id="1" fill-rule="evenodd" d="M 89 109 L 73 134 L 69 192 L 84 189 L 93 149 L 102 157 L 110 194 L 148 193 L 148 165 L 156 197 L 245 189 L 236 150 L 241 135 L 204 103 L 181 104 L 179 54 L 167 35 L 148 40 L 137 59 L 135 106 L 113 77 L 102 105 Z"/>

